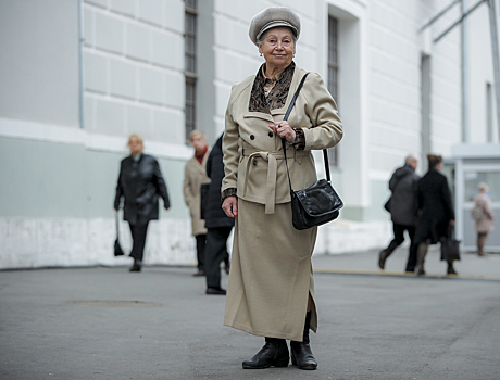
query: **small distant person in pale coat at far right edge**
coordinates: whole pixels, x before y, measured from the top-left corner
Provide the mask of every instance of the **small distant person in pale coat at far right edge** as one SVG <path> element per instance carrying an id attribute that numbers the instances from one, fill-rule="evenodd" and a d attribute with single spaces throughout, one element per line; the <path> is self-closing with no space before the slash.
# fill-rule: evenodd
<path id="1" fill-rule="evenodd" d="M 479 193 L 474 198 L 474 208 L 472 217 L 476 221 L 477 232 L 477 254 L 485 256 L 485 243 L 488 232 L 491 232 L 493 227 L 493 208 L 491 199 L 488 195 L 489 187 L 485 182 L 477 186 Z"/>

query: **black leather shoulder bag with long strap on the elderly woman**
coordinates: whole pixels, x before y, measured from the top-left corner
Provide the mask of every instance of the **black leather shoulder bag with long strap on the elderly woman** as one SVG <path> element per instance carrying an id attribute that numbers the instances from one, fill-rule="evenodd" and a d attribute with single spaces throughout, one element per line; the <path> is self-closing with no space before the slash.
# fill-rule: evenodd
<path id="1" fill-rule="evenodd" d="M 290 105 L 288 106 L 288 110 L 285 114 L 284 121 L 288 118 L 308 75 L 309 73 L 305 74 L 300 81 L 299 87 L 297 88 L 297 91 L 293 94 Z M 290 172 L 288 169 L 287 147 L 285 139 L 283 138 L 282 145 L 283 153 L 285 155 L 285 164 L 287 166 L 288 182 L 290 185 L 291 215 L 293 227 L 298 230 L 302 230 L 321 226 L 325 223 L 336 219 L 339 215 L 339 210 L 343 206 L 343 203 L 330 185 L 328 153 L 326 149 L 323 150 L 326 179 L 320 179 L 307 189 L 293 191 L 291 188 Z"/>

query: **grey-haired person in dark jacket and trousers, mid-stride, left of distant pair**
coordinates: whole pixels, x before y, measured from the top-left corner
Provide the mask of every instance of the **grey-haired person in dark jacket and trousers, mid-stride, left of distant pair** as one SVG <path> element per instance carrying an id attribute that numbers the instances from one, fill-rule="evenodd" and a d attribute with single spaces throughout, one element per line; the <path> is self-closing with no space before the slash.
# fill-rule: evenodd
<path id="1" fill-rule="evenodd" d="M 417 189 L 420 176 L 415 169 L 418 161 L 413 154 L 409 154 L 404 165 L 396 169 L 389 180 L 391 195 L 388 202 L 388 211 L 392 220 L 395 237 L 385 250 L 378 255 L 378 266 L 385 268 L 386 259 L 403 243 L 404 231 L 410 236 L 410 249 L 405 271 L 415 271 L 416 249 L 413 244 L 416 226 Z"/>

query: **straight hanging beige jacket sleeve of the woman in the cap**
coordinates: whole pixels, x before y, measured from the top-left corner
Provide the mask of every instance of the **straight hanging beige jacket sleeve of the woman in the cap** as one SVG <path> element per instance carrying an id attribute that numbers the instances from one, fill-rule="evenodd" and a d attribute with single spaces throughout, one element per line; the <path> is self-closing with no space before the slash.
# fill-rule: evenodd
<path id="1" fill-rule="evenodd" d="M 234 92 L 234 90 L 233 90 Z M 238 179 L 238 162 L 239 162 L 239 152 L 238 152 L 238 139 L 239 131 L 238 125 L 235 123 L 232 116 L 234 99 L 232 93 L 232 99 L 229 99 L 229 104 L 226 110 L 225 118 L 225 131 L 223 138 L 223 153 L 224 153 L 224 179 L 222 182 L 221 191 L 226 189 L 236 189 L 237 179 Z"/>

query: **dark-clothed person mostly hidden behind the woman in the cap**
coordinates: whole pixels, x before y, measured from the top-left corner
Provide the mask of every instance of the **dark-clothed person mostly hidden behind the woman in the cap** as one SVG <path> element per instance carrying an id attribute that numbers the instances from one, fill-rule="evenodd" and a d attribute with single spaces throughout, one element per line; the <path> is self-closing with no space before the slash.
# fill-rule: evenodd
<path id="1" fill-rule="evenodd" d="M 211 181 L 207 194 L 204 212 L 204 226 L 207 227 L 207 251 L 204 269 L 207 276 L 207 294 L 226 294 L 221 288 L 221 263 L 224 262 L 226 273 L 229 274 L 229 254 L 227 252 L 227 238 L 235 225 L 222 210 L 221 186 L 224 178 L 224 163 L 222 154 L 221 135 L 210 152 L 207 161 L 207 175 Z"/>

